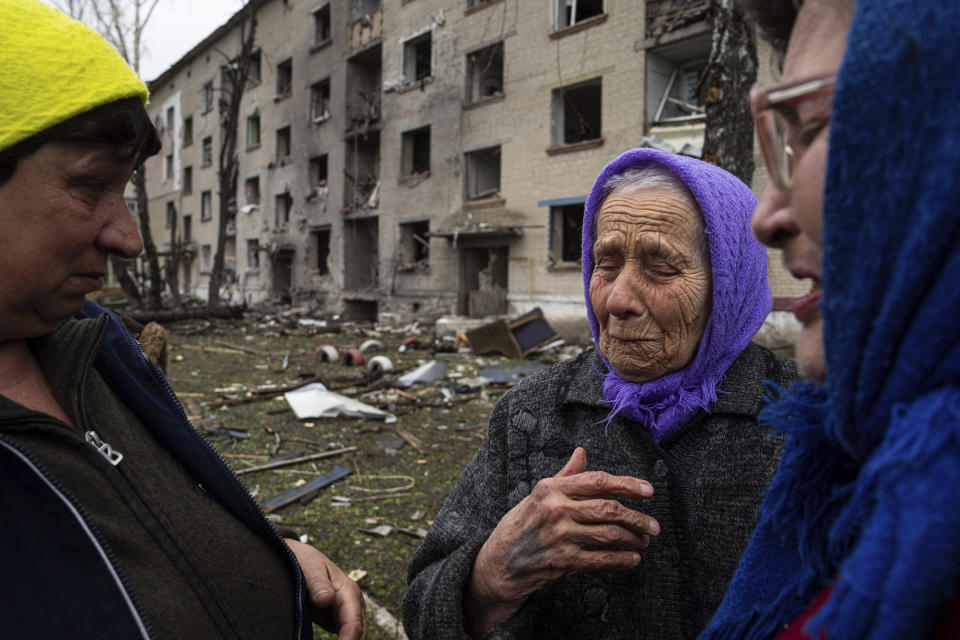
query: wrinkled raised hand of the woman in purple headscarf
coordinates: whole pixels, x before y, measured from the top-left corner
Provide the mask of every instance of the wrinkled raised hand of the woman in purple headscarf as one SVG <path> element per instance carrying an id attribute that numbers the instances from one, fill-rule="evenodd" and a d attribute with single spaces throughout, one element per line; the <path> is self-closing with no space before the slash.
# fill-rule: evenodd
<path id="1" fill-rule="evenodd" d="M 466 631 L 474 638 L 485 638 L 549 582 L 635 567 L 640 554 L 629 549 L 646 548 L 660 532 L 650 516 L 602 499 L 649 498 L 649 482 L 586 471 L 586 464 L 578 447 L 557 475 L 507 512 L 480 549 L 464 594 Z"/>

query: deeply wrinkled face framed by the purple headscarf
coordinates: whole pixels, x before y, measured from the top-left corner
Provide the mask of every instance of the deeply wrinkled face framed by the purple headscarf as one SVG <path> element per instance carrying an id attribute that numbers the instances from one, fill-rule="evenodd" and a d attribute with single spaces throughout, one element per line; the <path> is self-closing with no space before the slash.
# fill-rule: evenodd
<path id="1" fill-rule="evenodd" d="M 683 368 L 710 316 L 703 220 L 662 189 L 614 193 L 600 208 L 590 303 L 601 353 L 625 380 Z"/>

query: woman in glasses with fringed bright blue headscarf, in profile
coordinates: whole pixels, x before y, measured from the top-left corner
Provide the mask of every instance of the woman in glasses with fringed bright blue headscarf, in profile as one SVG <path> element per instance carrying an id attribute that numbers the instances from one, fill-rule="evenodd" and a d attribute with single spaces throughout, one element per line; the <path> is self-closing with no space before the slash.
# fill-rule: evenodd
<path id="1" fill-rule="evenodd" d="M 751 96 L 771 178 L 753 227 L 813 279 L 810 380 L 771 387 L 783 457 L 701 637 L 956 638 L 960 4 L 755 4 L 789 45 Z"/>

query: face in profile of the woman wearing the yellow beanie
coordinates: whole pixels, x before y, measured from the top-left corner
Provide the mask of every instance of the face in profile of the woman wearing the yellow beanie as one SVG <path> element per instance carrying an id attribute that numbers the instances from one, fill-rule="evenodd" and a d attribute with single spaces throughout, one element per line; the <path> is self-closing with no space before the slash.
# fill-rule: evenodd
<path id="1" fill-rule="evenodd" d="M 110 145 L 50 142 L 17 163 L 0 185 L 0 341 L 49 333 L 103 285 L 108 254 L 140 252 L 132 172 Z"/>

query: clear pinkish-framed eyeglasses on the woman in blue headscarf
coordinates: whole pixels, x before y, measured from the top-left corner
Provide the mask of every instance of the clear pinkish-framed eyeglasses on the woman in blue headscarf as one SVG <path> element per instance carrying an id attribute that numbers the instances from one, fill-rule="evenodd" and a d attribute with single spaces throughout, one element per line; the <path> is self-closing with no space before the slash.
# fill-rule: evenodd
<path id="1" fill-rule="evenodd" d="M 788 133 L 796 123 L 790 107 L 833 94 L 836 74 L 781 84 L 765 89 L 755 86 L 750 90 L 750 110 L 757 127 L 760 151 L 770 172 L 773 184 L 787 193 L 793 185 L 793 171 L 797 154 L 790 146 Z"/>

